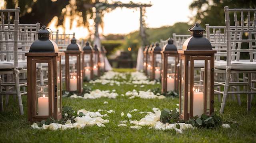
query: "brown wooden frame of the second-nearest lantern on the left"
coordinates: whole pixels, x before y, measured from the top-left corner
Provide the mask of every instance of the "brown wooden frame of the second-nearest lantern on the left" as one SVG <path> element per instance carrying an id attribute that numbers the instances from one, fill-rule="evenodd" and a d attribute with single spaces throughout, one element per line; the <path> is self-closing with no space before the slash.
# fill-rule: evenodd
<path id="1" fill-rule="evenodd" d="M 66 91 L 70 91 L 70 56 L 76 56 L 76 91 L 78 93 L 83 92 L 83 69 L 82 69 L 82 54 L 83 51 L 64 51 L 65 53 L 65 80 Z"/>

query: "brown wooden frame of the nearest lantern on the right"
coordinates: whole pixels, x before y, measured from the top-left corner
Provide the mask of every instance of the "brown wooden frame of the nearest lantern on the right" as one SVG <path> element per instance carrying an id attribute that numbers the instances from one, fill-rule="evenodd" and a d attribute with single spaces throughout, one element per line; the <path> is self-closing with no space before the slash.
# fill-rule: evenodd
<path id="1" fill-rule="evenodd" d="M 180 118 L 184 120 L 188 120 L 193 118 L 193 103 L 194 103 L 194 60 L 204 60 L 204 81 L 208 81 L 208 72 L 210 72 L 210 85 L 207 82 L 204 82 L 204 114 L 211 115 L 214 112 L 214 53 L 216 51 L 208 50 L 208 51 L 192 51 L 187 50 L 178 51 L 180 54 Z M 210 71 L 208 71 L 208 60 L 210 60 Z M 190 67 L 189 67 L 190 61 Z M 184 63 L 183 63 L 184 62 Z M 184 67 L 183 67 L 184 64 Z M 184 68 L 184 69 L 183 69 Z M 190 74 L 188 73 L 190 68 Z M 183 71 L 184 70 L 184 71 Z M 184 77 L 182 77 L 182 72 L 184 73 Z M 190 79 L 188 79 L 190 78 Z M 190 83 L 188 81 L 190 80 Z M 184 85 L 182 85 L 184 84 Z M 188 84 L 190 84 L 190 89 L 188 89 Z M 184 89 L 183 89 L 184 88 Z M 205 91 L 209 88 L 210 95 L 208 96 Z M 183 90 L 183 91 L 182 91 Z M 190 92 L 190 99 L 188 92 Z M 207 99 L 209 97 L 210 99 Z M 184 100 L 182 99 L 184 98 Z M 182 101 L 183 100 L 183 101 Z M 190 100 L 190 103 L 188 103 Z M 209 112 L 206 111 L 207 102 L 209 102 Z M 188 109 L 189 106 L 189 109 Z"/>

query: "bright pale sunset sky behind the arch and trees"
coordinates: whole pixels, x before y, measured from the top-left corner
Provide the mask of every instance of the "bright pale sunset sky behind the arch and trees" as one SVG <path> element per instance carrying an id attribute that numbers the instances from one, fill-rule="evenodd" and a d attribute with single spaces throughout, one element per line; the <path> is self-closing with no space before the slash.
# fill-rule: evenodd
<path id="1" fill-rule="evenodd" d="M 120 0 L 123 3 L 129 3 L 130 0 Z M 152 4 L 151 7 L 146 8 L 146 24 L 147 27 L 161 27 L 164 25 L 173 25 L 176 22 L 189 22 L 190 17 L 194 15 L 189 10 L 189 5 L 193 0 L 132 0 L 134 3 Z M 77 26 L 75 18 L 73 25 L 70 28 L 70 18 L 64 18 L 64 25 L 56 27 L 58 18 L 54 17 L 48 27 L 52 31 L 59 29 L 60 33 L 76 33 L 76 38 L 88 38 L 88 30 L 83 26 Z M 139 8 L 116 8 L 109 13 L 104 14 L 104 31 L 99 29 L 100 34 L 127 34 L 139 29 L 140 10 Z M 90 30 L 94 30 L 94 20 L 90 19 Z M 62 27 L 63 26 L 63 27 Z"/>

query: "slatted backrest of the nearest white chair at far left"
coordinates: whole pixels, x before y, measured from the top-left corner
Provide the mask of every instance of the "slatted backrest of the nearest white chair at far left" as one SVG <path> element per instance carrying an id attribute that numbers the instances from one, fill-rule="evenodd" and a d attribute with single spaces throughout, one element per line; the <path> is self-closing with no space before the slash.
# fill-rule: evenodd
<path id="1" fill-rule="evenodd" d="M 0 60 L 10 61 L 10 53 L 13 53 L 14 68 L 17 68 L 18 67 L 18 24 L 19 24 L 20 8 L 16 7 L 15 9 L 0 10 L 0 13 L 1 13 Z M 7 15 L 7 20 L 5 18 L 6 15 Z M 10 50 L 9 45 L 13 45 L 12 51 Z M 6 53 L 6 57 L 4 53 Z"/>

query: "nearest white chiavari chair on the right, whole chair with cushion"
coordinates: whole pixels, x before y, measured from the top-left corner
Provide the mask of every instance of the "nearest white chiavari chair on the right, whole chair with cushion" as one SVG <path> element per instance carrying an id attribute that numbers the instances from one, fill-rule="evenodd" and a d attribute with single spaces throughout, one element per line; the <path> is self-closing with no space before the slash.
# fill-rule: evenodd
<path id="1" fill-rule="evenodd" d="M 256 73 L 256 62 L 254 61 L 254 46 L 252 43 L 256 42 L 256 37 L 252 37 L 252 34 L 256 32 L 256 9 L 248 9 L 248 8 L 234 8 L 230 9 L 228 6 L 224 7 L 225 10 L 225 23 L 226 23 L 226 42 L 227 42 L 227 60 L 226 66 L 226 80 L 224 84 L 224 91 L 221 92 L 222 103 L 220 108 L 220 114 L 224 112 L 224 107 L 226 105 L 226 97 L 228 94 L 247 94 L 247 111 L 251 110 L 251 100 L 252 94 L 256 94 L 256 88 L 252 86 L 252 73 Z M 230 14 L 234 14 L 234 25 L 230 24 Z M 240 14 L 240 25 L 238 24 L 237 15 Z M 247 14 L 247 20 L 244 20 L 244 14 Z M 251 24 L 251 15 L 253 14 L 253 23 Z M 247 21 L 247 24 L 244 23 Z M 242 39 L 232 39 L 232 33 L 242 33 Z M 247 34 L 247 36 L 246 36 Z M 246 49 L 239 49 L 235 47 L 235 44 L 232 43 L 241 43 L 245 45 Z M 244 53 L 247 54 L 247 61 L 241 60 L 241 56 L 235 57 L 233 53 Z M 220 68 L 220 67 L 219 67 Z M 223 68 L 222 68 L 223 69 Z M 247 74 L 248 80 L 231 82 L 230 77 L 232 74 Z M 229 86 L 247 86 L 247 91 L 228 91 Z"/>

